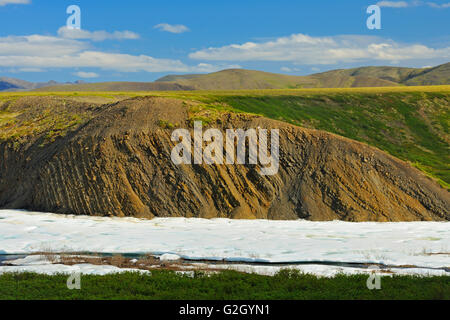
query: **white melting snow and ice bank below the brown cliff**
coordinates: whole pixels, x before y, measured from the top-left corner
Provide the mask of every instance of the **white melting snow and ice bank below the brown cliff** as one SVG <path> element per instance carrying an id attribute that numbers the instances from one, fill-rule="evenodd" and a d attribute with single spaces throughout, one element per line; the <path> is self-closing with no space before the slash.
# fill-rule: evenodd
<path id="1" fill-rule="evenodd" d="M 444 268 L 450 267 L 449 243 L 449 222 L 141 220 L 0 210 L 0 254 L 42 251 L 153 253 L 178 255 L 186 259 L 247 262 L 379 263 L 409 267 L 395 268 L 396 273 L 442 274 L 445 273 Z M 165 257 L 174 257 L 170 255 Z M 45 268 L 50 270 L 56 268 L 54 266 L 47 265 Z M 5 272 L 4 268 L 25 267 L 40 268 L 36 265 L 0 267 L 0 272 Z M 69 266 L 60 268 L 63 267 Z M 227 266 L 222 265 L 221 268 L 224 267 Z M 288 266 L 228 267 L 271 274 Z M 83 265 L 80 268 L 107 270 L 106 266 Z M 313 264 L 294 268 L 324 275 L 336 270 L 359 272 L 358 268 Z"/>

